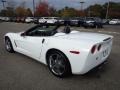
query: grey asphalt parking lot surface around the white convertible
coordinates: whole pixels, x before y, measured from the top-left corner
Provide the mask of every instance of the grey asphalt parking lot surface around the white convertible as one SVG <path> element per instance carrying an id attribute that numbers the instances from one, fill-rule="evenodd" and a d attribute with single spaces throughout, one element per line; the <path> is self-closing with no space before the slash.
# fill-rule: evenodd
<path id="1" fill-rule="evenodd" d="M 119 90 L 120 89 L 120 25 L 103 29 L 76 28 L 80 31 L 105 33 L 114 36 L 107 64 L 85 75 L 60 79 L 48 68 L 19 53 L 8 53 L 3 36 L 7 32 L 27 30 L 34 24 L 0 23 L 0 90 Z M 74 28 L 72 28 L 74 29 Z"/>

